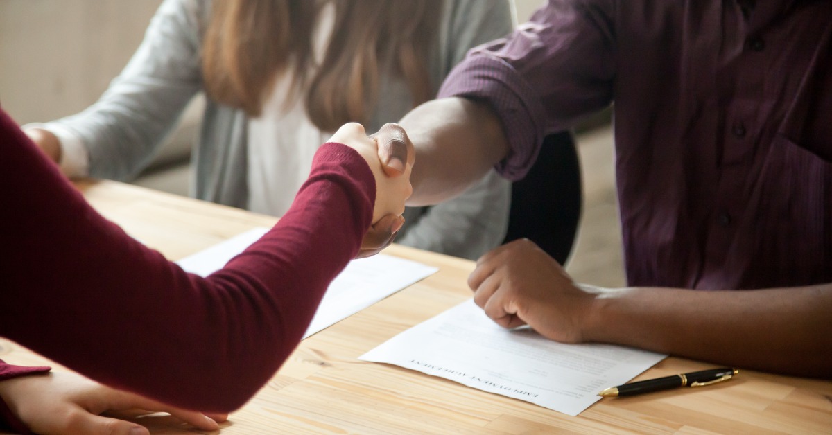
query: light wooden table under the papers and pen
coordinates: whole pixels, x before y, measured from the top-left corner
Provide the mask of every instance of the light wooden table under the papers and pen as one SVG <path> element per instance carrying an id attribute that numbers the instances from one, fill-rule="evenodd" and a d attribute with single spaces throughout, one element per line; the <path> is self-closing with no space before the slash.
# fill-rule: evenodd
<path id="1" fill-rule="evenodd" d="M 275 218 L 111 181 L 77 184 L 108 219 L 171 260 Z M 394 245 L 437 274 L 305 339 L 222 433 L 832 433 L 832 382 L 742 370 L 730 382 L 609 398 L 578 417 L 359 355 L 468 299 L 473 262 Z M 0 340 L 9 363 L 59 365 Z M 712 367 L 667 358 L 636 379 Z M 141 418 L 182 433 L 170 418 Z"/>

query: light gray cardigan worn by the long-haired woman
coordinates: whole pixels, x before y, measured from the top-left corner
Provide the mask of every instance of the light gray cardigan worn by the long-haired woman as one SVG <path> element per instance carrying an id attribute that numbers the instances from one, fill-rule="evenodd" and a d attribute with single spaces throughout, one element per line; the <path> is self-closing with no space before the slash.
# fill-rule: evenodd
<path id="1" fill-rule="evenodd" d="M 149 164 L 187 103 L 203 88 L 200 57 L 209 16 L 210 0 L 163 2 L 141 46 L 99 101 L 77 115 L 53 121 L 81 138 L 90 176 L 130 180 Z M 428 64 L 434 94 L 469 48 L 511 29 L 509 0 L 446 0 Z M 412 106 L 407 84 L 383 75 L 367 131 L 398 121 Z M 245 207 L 248 125 L 245 112 L 207 100 L 191 153 L 193 196 Z M 396 241 L 476 259 L 502 242 L 510 194 L 510 183 L 492 171 L 453 200 L 406 210 L 407 221 Z"/>

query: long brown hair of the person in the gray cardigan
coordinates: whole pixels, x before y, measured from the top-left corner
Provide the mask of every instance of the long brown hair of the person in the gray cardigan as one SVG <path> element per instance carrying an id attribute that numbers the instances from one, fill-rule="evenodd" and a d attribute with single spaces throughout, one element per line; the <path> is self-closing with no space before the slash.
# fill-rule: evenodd
<path id="1" fill-rule="evenodd" d="M 259 116 L 275 78 L 292 64 L 295 83 L 307 89 L 310 119 L 334 131 L 348 121 L 369 121 L 379 70 L 389 65 L 404 77 L 417 105 L 432 93 L 428 52 L 442 1 L 336 0 L 324 62 L 314 77 L 306 77 L 322 2 L 214 0 L 202 57 L 206 91 L 215 101 Z"/>

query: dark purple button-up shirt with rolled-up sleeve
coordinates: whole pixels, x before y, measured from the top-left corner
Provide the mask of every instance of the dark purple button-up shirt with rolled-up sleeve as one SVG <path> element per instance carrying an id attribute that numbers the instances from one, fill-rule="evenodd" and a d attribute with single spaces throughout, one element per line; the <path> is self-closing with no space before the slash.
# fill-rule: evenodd
<path id="1" fill-rule="evenodd" d="M 440 96 L 498 111 L 513 180 L 545 134 L 614 101 L 631 285 L 827 283 L 830 39 L 829 0 L 551 0 Z"/>

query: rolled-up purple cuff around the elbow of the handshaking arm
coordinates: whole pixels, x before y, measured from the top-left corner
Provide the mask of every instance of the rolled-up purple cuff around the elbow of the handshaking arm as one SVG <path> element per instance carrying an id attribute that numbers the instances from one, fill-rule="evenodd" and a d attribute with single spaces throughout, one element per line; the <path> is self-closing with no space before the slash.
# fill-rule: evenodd
<path id="1" fill-rule="evenodd" d="M 473 52 L 443 82 L 438 97 L 446 96 L 488 102 L 510 146 L 494 169 L 509 180 L 522 179 L 537 159 L 545 131 L 545 111 L 534 88 L 503 59 Z"/>

